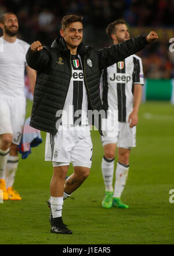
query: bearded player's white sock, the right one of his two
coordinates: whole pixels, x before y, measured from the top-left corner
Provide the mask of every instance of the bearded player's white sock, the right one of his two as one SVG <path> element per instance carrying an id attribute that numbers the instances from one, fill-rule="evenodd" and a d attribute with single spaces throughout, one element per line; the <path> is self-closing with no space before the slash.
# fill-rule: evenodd
<path id="1" fill-rule="evenodd" d="M 14 183 L 14 179 L 16 176 L 16 170 L 19 162 L 19 156 L 13 157 L 12 155 L 9 155 L 8 161 L 6 163 L 6 177 L 5 177 L 5 183 L 6 188 L 12 187 Z"/>

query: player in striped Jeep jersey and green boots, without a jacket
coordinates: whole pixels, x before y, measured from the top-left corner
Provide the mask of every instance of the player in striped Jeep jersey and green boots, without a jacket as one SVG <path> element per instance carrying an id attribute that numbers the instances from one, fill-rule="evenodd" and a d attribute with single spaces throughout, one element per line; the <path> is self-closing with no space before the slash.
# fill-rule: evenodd
<path id="1" fill-rule="evenodd" d="M 116 20 L 108 24 L 106 32 L 114 45 L 129 40 L 128 27 L 124 20 Z M 102 101 L 104 109 L 118 110 L 118 132 L 102 137 L 104 157 L 102 159 L 102 174 L 105 184 L 103 208 L 129 208 L 121 201 L 129 171 L 129 155 L 136 146 L 136 125 L 139 106 L 142 99 L 143 85 L 142 60 L 137 55 L 131 55 L 103 70 Z M 115 172 L 113 189 L 113 174 L 115 152 L 118 147 L 118 162 Z"/>

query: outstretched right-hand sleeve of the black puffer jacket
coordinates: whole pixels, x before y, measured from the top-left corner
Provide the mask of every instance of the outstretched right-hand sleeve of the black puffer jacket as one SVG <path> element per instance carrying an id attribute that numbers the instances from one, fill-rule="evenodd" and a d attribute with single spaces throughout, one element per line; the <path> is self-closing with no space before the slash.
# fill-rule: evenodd
<path id="1" fill-rule="evenodd" d="M 123 59 L 135 54 L 142 50 L 148 44 L 146 37 L 139 35 L 138 37 L 131 38 L 120 44 L 112 45 L 108 48 L 99 50 L 99 65 L 100 69 L 105 69 L 113 65 L 115 62 L 122 61 Z"/>

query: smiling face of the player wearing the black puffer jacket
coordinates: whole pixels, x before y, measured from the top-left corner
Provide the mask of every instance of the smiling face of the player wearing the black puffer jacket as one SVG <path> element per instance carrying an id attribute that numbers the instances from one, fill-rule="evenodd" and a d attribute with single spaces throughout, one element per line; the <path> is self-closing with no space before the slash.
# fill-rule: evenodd
<path id="1" fill-rule="evenodd" d="M 83 38 L 83 25 L 81 22 L 70 23 L 66 29 L 60 30 L 60 35 L 66 41 L 71 54 L 76 54 L 75 52 L 77 52 L 77 47 Z"/>

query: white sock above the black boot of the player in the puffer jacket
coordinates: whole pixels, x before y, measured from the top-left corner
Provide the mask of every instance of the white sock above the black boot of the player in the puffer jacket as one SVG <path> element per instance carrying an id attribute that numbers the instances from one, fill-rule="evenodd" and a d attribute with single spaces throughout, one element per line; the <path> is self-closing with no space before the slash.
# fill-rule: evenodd
<path id="1" fill-rule="evenodd" d="M 50 197 L 53 218 L 61 217 L 63 197 Z"/>

